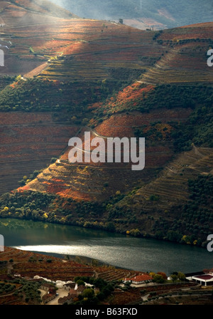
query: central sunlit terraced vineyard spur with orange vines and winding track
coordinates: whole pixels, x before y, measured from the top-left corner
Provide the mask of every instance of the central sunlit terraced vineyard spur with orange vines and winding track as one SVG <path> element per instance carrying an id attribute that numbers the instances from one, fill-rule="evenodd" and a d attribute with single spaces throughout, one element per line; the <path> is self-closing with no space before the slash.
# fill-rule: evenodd
<path id="1" fill-rule="evenodd" d="M 131 115 L 114 115 L 91 130 L 84 128 L 78 135 L 84 141 L 84 132 L 91 131 L 91 140 L 94 137 L 133 137 L 134 130 L 151 122 L 162 122 L 163 127 L 169 120 L 185 122 L 192 110 L 160 110 L 148 115 L 131 113 Z M 169 126 L 169 125 L 168 125 Z M 163 130 L 163 127 L 161 128 Z M 88 140 L 84 141 L 84 150 L 89 149 Z M 68 160 L 71 147 L 67 147 L 64 154 L 50 167 L 43 170 L 36 179 L 19 189 L 33 190 L 35 192 L 48 192 L 60 194 L 62 197 L 93 200 L 102 202 L 117 191 L 130 192 L 138 183 L 150 182 L 162 167 L 174 156 L 172 140 L 163 138 L 153 143 L 146 142 L 146 169 L 138 172 L 131 170 L 130 163 L 93 163 L 70 164 Z M 91 149 L 92 150 L 92 149 Z M 106 149 L 107 150 L 107 149 Z M 103 150 L 104 152 L 104 150 Z M 84 159 L 84 157 L 83 157 Z M 94 182 L 95 181 L 95 182 Z"/>

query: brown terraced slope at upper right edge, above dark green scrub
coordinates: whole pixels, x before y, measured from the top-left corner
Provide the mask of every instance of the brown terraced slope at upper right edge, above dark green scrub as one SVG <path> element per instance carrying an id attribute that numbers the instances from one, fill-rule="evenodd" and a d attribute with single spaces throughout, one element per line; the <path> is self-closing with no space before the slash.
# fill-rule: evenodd
<path id="1" fill-rule="evenodd" d="M 207 51 L 212 48 L 213 23 L 165 30 L 155 41 L 168 48 L 155 66 L 148 68 L 143 83 L 212 83 Z"/>

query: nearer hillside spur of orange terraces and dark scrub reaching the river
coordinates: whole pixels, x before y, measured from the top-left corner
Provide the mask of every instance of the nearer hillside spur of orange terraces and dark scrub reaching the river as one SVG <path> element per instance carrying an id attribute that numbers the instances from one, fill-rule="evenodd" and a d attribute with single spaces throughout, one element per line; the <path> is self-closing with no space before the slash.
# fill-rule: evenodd
<path id="1" fill-rule="evenodd" d="M 189 92 L 190 88 L 195 90 L 196 86 L 186 86 L 185 90 Z M 159 96 L 160 90 L 165 93 L 165 87 L 158 88 Z M 33 181 L 2 197 L 2 216 L 10 212 L 19 217 L 22 207 L 21 214 L 26 218 L 204 244 L 213 226 L 213 153 L 210 147 L 192 143 L 212 142 L 204 130 L 205 120 L 210 132 L 212 127 L 212 107 L 204 107 L 212 88 L 204 92 L 199 89 L 204 94 L 200 96 L 195 92 L 197 103 L 193 109 L 188 104 L 185 108 L 173 105 L 171 109 L 158 105 L 143 114 L 115 113 L 94 129 L 84 128 L 91 130 L 92 137 L 146 136 L 146 167 L 142 171 L 132 172 L 129 164 L 70 164 L 67 149 Z M 121 96 L 117 106 L 122 105 Z M 174 93 L 171 96 L 175 98 Z M 187 95 L 182 97 L 187 103 Z M 152 105 L 150 98 L 152 95 L 146 96 L 147 106 Z M 193 124 L 195 121 L 197 125 Z M 83 138 L 84 130 L 79 137 Z M 36 210 L 28 206 L 32 200 Z M 5 211 L 7 202 L 11 206 Z M 204 220 L 208 221 L 207 227 Z"/>

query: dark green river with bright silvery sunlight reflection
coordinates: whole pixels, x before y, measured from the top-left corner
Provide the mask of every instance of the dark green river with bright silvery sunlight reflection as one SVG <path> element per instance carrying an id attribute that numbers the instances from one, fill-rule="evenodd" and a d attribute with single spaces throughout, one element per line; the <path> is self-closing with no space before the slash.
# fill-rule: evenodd
<path id="1" fill-rule="evenodd" d="M 26 251 L 86 256 L 136 271 L 190 273 L 213 267 L 213 252 L 196 246 L 134 238 L 41 221 L 0 219 L 4 245 Z"/>

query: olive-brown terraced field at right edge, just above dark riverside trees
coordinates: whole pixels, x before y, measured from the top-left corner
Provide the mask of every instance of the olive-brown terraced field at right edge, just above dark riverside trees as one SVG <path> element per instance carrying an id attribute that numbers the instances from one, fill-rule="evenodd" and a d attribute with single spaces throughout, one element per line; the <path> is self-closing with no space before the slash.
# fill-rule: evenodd
<path id="1" fill-rule="evenodd" d="M 197 174 L 212 173 L 212 159 L 212 149 L 194 146 L 192 151 L 183 152 L 175 161 L 170 162 L 158 179 L 139 189 L 133 201 L 140 202 L 146 211 L 169 209 L 180 202 L 187 202 L 188 179 L 195 179 Z M 149 201 L 153 194 L 159 197 L 157 202 Z"/>

